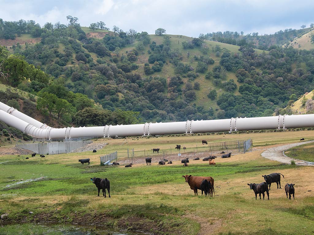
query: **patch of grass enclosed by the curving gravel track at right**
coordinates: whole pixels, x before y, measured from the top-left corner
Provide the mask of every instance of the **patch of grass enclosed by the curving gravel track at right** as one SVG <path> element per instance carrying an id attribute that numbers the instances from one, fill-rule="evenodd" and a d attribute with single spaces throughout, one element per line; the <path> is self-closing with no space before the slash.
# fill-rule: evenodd
<path id="1" fill-rule="evenodd" d="M 291 158 L 314 162 L 314 143 L 288 149 L 285 154 Z"/>

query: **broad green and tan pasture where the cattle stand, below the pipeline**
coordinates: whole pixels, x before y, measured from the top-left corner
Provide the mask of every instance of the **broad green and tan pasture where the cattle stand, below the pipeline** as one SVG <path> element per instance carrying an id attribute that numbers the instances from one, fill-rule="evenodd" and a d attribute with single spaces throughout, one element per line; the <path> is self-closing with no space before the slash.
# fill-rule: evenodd
<path id="1" fill-rule="evenodd" d="M 101 139 L 98 141 L 109 145 L 99 150 L 97 156 L 73 153 L 25 160 L 25 156 L 4 155 L 0 157 L 0 162 L 4 162 L 0 164 L 0 214 L 8 213 L 8 218 L 0 220 L 0 224 L 80 223 L 151 234 L 204 235 L 252 234 L 254 225 L 258 227 L 255 234 L 310 234 L 314 231 L 314 167 L 281 165 L 260 154 L 268 145 L 296 142 L 301 136 L 308 140 L 313 134 L 314 131 L 289 134 L 285 131 Z M 214 142 L 239 137 L 252 138 L 254 151 L 235 154 L 229 159 L 217 158 L 214 166 L 205 161 L 190 161 L 187 167 L 179 161 L 164 166 L 156 163 L 146 166 L 141 162 L 132 168 L 99 165 L 99 155 L 113 150 L 118 151 L 122 160 L 127 156 L 120 152 L 126 148 L 166 149 L 175 143 L 195 146 L 201 139 Z M 204 154 L 208 155 L 208 150 Z M 91 158 L 91 165 L 78 163 L 83 156 Z M 275 187 L 270 191 L 269 201 L 254 199 L 247 183 L 263 182 L 262 175 L 272 172 L 285 176 L 282 185 L 295 183 L 294 201 L 286 199 L 283 188 Z M 194 196 L 182 178 L 186 174 L 212 176 L 215 196 Z M 107 198 L 97 197 L 97 189 L 90 181 L 93 177 L 110 180 L 111 198 L 108 194 Z M 21 179 L 38 178 L 41 179 L 16 184 Z M 4 227 L 0 231 L 8 234 L 12 229 Z"/>

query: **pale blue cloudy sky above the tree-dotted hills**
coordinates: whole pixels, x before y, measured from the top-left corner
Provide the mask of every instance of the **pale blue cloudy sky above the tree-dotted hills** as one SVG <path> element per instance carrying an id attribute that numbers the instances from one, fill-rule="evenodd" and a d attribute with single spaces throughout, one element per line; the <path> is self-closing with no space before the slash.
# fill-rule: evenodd
<path id="1" fill-rule="evenodd" d="M 110 29 L 116 25 L 154 34 L 163 28 L 191 37 L 226 30 L 273 34 L 314 23 L 313 0 L 0 0 L 0 7 L 4 21 L 67 24 L 71 15 L 81 26 L 103 21 Z"/>

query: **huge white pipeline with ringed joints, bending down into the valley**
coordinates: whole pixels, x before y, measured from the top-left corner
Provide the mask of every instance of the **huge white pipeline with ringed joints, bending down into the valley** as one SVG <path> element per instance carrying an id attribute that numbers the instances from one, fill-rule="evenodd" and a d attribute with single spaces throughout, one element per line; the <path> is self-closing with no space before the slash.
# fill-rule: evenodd
<path id="1" fill-rule="evenodd" d="M 259 118 L 228 118 L 170 123 L 106 125 L 100 127 L 52 128 L 0 102 L 0 120 L 36 139 L 73 139 L 83 137 L 117 138 L 125 136 L 248 131 L 314 127 L 314 114 L 279 115 Z"/>

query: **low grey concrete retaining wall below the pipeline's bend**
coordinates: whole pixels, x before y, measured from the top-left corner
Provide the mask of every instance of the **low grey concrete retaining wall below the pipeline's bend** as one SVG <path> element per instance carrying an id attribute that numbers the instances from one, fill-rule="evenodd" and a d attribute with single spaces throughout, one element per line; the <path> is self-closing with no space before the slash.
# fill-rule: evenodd
<path id="1" fill-rule="evenodd" d="M 39 144 L 16 144 L 16 147 L 33 151 L 37 154 L 64 154 L 73 151 L 93 141 L 68 141 L 68 142 L 49 142 Z"/>

